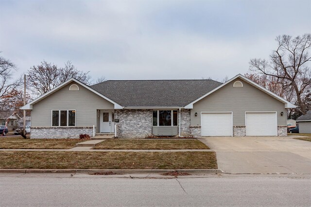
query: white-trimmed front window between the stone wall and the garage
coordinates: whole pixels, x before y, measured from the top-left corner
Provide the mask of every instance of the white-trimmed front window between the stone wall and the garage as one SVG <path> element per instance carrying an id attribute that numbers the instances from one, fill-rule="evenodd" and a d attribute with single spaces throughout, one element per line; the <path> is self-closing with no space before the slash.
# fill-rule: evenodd
<path id="1" fill-rule="evenodd" d="M 152 111 L 153 126 L 178 126 L 177 110 L 155 110 Z"/>

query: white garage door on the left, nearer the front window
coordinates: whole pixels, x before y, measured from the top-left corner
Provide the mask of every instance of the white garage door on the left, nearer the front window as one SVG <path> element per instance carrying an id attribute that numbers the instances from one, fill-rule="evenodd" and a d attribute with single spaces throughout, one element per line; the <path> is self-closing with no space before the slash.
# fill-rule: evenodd
<path id="1" fill-rule="evenodd" d="M 232 136 L 232 113 L 202 113 L 202 136 Z"/>

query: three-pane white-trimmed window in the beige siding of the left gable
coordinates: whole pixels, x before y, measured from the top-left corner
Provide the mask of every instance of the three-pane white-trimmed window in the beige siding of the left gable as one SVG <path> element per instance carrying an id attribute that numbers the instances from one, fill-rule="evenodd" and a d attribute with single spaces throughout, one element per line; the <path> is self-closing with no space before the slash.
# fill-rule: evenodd
<path id="1" fill-rule="evenodd" d="M 52 110 L 52 126 L 75 126 L 76 110 Z"/>

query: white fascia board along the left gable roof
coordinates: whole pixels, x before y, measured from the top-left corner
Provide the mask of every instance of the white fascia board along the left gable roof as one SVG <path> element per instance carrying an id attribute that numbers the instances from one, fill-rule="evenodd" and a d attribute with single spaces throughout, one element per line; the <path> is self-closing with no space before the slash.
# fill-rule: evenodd
<path id="1" fill-rule="evenodd" d="M 107 100 L 108 102 L 114 104 L 114 108 L 115 108 L 115 109 L 122 109 L 122 108 L 123 108 L 121 105 L 119 105 L 119 104 L 115 103 L 114 101 L 108 99 L 108 98 L 105 97 L 103 94 L 97 92 L 96 90 L 92 89 L 91 87 L 86 86 L 84 83 L 82 83 L 82 82 L 76 80 L 75 78 L 70 78 L 68 81 L 65 81 L 65 82 L 62 83 L 61 85 L 59 85 L 59 86 L 57 86 L 57 87 L 54 87 L 52 90 L 50 90 L 50 91 L 46 92 L 45 94 L 43 94 L 42 96 L 36 98 L 34 101 L 32 101 L 32 102 L 30 102 L 30 103 L 28 103 L 28 104 L 22 106 L 20 109 L 25 109 L 25 110 L 31 110 L 31 109 L 33 109 L 33 106 L 32 106 L 33 104 L 35 104 L 35 103 L 41 101 L 42 99 L 44 99 L 45 97 L 49 96 L 49 95 L 52 94 L 53 92 L 59 90 L 59 89 L 62 88 L 63 86 L 66 86 L 66 85 L 67 85 L 69 82 L 71 82 L 71 81 L 74 81 L 74 82 L 80 84 L 81 86 L 84 86 L 86 89 L 92 91 L 93 93 L 99 95 L 100 97 L 104 98 L 104 99 Z"/>

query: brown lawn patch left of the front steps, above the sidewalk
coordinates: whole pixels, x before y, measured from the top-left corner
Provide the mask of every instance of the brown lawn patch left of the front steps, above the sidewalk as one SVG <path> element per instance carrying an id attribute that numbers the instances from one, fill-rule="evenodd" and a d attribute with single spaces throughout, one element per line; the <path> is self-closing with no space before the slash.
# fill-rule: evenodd
<path id="1" fill-rule="evenodd" d="M 70 149 L 81 139 L 0 138 L 0 149 Z"/>

